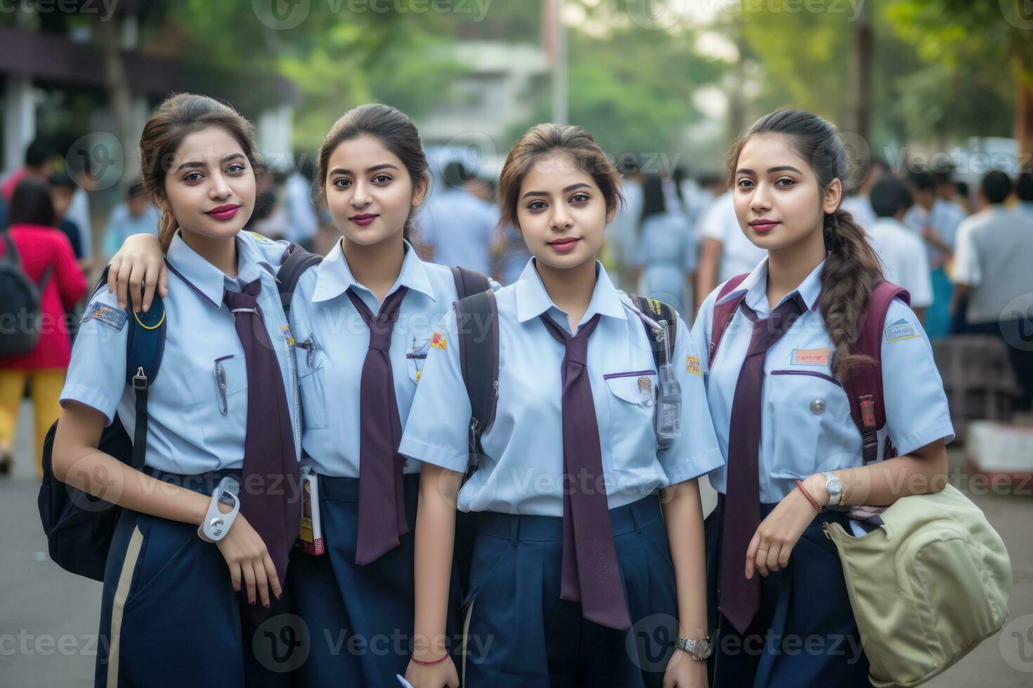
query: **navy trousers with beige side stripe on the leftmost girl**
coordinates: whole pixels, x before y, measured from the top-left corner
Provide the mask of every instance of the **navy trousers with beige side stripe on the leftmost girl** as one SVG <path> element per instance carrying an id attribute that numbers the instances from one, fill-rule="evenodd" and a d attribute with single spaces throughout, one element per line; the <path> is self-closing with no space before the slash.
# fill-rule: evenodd
<path id="1" fill-rule="evenodd" d="M 211 494 L 222 476 L 240 471 L 148 472 Z M 196 526 L 123 510 L 104 572 L 95 685 L 243 688 L 246 664 L 256 663 L 246 658 L 249 646 L 216 546 Z"/>

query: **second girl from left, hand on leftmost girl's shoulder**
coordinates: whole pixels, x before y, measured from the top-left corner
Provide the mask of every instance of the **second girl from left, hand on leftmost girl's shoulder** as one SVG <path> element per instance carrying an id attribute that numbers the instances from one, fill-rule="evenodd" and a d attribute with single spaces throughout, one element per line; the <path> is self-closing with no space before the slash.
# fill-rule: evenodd
<path id="1" fill-rule="evenodd" d="M 306 516 L 318 516 L 321 532 L 305 535 L 307 552 L 291 565 L 293 612 L 309 637 L 296 680 L 395 686 L 412 653 L 420 470 L 398 453 L 402 428 L 435 324 L 460 296 L 498 285 L 416 255 L 412 224 L 430 176 L 419 132 L 398 109 L 345 112 L 319 148 L 315 179 L 342 237 L 321 262 L 309 255 L 280 274 L 281 289 L 294 283 L 288 332 L 311 477 Z M 133 268 L 123 271 L 151 284 L 149 241 L 126 242 Z"/>

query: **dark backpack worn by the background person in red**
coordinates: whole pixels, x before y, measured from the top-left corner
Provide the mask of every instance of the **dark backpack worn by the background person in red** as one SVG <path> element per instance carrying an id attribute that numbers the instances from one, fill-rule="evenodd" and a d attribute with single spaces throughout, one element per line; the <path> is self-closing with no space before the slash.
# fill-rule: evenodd
<path id="1" fill-rule="evenodd" d="M 22 267 L 18 249 L 6 230 L 7 251 L 0 257 L 0 356 L 20 356 L 39 341 L 40 298 L 51 279 L 50 266 L 36 285 Z M 23 324 L 28 324 L 24 327 Z"/>

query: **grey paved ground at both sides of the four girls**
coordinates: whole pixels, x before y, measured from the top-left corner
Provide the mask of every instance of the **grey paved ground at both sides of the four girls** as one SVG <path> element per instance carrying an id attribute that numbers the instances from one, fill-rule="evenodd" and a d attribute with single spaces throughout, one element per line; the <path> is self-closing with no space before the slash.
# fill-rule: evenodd
<path id="1" fill-rule="evenodd" d="M 0 480 L 0 685 L 89 686 L 96 653 L 100 584 L 67 574 L 46 557 L 36 510 L 31 426 L 23 413 L 14 474 Z M 935 681 L 936 688 L 1033 686 L 1033 485 L 994 494 L 964 480 L 951 452 L 952 482 L 987 513 L 1011 555 L 1008 626 Z M 710 497 L 710 495 L 708 495 Z M 712 503 L 712 499 L 708 499 Z"/>

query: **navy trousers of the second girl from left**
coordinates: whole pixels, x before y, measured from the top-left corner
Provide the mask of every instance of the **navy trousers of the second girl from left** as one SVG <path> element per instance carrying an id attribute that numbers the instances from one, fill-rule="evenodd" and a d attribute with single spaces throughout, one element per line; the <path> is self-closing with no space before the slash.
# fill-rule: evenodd
<path id="1" fill-rule="evenodd" d="M 319 476 L 319 517 L 326 553 L 291 563 L 295 610 L 308 638 L 301 686 L 399 685 L 412 653 L 413 533 L 419 474 L 405 477 L 409 533 L 401 545 L 365 566 L 355 564 L 358 480 Z M 455 580 L 451 588 L 457 585 Z M 451 609 L 458 607 L 458 592 Z M 449 635 L 458 629 L 449 615 Z M 455 643 L 453 643 L 455 644 Z"/>

